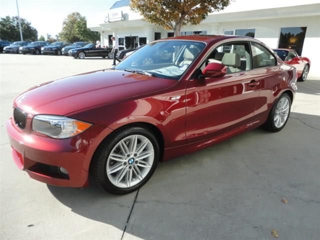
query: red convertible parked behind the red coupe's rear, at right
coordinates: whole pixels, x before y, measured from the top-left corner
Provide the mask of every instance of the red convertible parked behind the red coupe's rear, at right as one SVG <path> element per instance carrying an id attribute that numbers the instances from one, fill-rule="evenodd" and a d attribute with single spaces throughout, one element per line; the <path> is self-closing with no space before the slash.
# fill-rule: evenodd
<path id="1" fill-rule="evenodd" d="M 298 56 L 293 49 L 276 48 L 273 51 L 287 64 L 296 68 L 298 80 L 305 81 L 310 70 L 310 60 L 304 56 Z"/>

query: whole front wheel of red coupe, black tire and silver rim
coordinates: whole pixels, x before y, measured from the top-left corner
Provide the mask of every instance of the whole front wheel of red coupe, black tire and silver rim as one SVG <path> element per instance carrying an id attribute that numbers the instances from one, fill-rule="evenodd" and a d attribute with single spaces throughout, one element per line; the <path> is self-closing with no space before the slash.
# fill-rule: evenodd
<path id="1" fill-rule="evenodd" d="M 152 132 L 140 126 L 126 127 L 102 141 L 90 171 L 104 190 L 126 194 L 148 181 L 158 160 L 159 144 Z"/>

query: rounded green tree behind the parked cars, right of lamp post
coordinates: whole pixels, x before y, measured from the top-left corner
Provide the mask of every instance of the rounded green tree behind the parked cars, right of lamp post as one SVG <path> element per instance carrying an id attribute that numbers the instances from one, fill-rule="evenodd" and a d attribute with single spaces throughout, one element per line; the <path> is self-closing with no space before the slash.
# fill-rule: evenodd
<path id="1" fill-rule="evenodd" d="M 86 27 L 86 19 L 79 12 L 72 12 L 63 20 L 59 38 L 64 41 L 96 41 L 100 39 L 100 33 L 91 31 Z"/>

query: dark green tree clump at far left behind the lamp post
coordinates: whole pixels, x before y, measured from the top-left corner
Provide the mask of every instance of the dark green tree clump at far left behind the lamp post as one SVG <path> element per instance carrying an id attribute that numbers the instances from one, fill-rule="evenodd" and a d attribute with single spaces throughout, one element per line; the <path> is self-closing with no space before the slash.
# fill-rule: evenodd
<path id="1" fill-rule="evenodd" d="M 24 18 L 20 18 L 23 40 L 37 40 L 37 30 Z M 8 41 L 19 41 L 20 31 L 17 16 L 5 16 L 0 18 L 0 38 Z"/>

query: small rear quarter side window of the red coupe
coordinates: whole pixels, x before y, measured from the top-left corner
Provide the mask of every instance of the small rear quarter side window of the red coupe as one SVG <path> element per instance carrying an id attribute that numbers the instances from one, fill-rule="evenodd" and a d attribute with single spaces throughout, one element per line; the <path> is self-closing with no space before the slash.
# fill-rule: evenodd
<path id="1" fill-rule="evenodd" d="M 274 66 L 275 58 L 272 53 L 264 46 L 251 42 L 253 68 Z"/>

